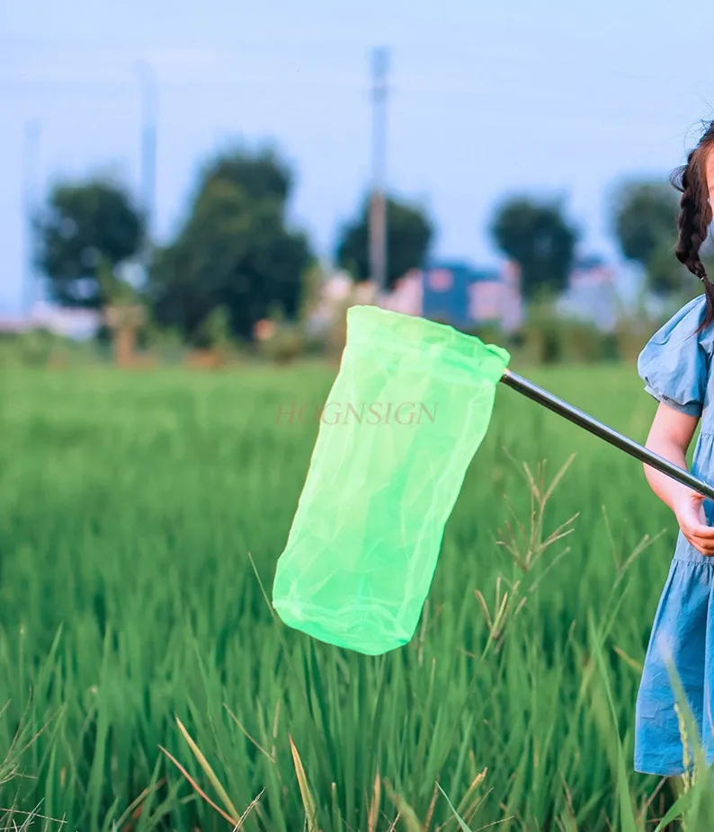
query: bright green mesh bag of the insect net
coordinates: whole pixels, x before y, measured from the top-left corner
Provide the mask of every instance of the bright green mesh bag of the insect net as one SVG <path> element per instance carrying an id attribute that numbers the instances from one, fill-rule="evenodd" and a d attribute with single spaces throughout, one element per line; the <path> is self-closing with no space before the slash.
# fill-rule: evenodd
<path id="1" fill-rule="evenodd" d="M 409 642 L 509 354 L 450 326 L 353 306 L 278 561 L 273 606 L 321 642 Z"/>

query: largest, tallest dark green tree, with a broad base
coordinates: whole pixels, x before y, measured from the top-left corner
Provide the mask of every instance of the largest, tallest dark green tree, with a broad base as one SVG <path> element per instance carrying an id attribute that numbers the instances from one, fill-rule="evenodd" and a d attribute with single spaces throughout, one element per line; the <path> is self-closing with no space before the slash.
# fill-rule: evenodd
<path id="1" fill-rule="evenodd" d="M 297 315 L 311 254 L 305 235 L 285 224 L 289 186 L 264 154 L 221 156 L 205 169 L 186 223 L 156 253 L 150 284 L 159 323 L 196 341 L 222 307 L 231 333 L 252 339 L 273 308 Z"/>

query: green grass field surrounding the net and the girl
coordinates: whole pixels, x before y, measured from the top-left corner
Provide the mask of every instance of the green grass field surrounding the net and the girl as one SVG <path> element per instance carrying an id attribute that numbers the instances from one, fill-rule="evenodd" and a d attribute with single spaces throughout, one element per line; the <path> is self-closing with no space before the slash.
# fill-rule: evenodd
<path id="1" fill-rule="evenodd" d="M 317 429 L 278 409 L 331 378 L 4 372 L 0 810 L 81 830 L 654 829 L 672 798 L 632 774 L 632 730 L 674 526 L 640 465 L 499 390 L 414 642 L 336 651 L 261 589 Z M 645 438 L 631 369 L 534 380 Z"/>

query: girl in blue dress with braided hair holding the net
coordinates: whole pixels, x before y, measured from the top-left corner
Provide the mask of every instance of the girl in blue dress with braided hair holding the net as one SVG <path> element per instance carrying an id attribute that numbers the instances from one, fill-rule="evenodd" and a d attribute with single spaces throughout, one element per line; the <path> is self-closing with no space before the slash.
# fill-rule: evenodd
<path id="1" fill-rule="evenodd" d="M 714 285 L 700 259 L 712 220 L 714 121 L 674 173 L 682 193 L 676 256 L 701 279 L 704 294 L 685 305 L 647 344 L 639 374 L 659 402 L 647 447 L 686 466 L 701 420 L 692 472 L 714 478 Z M 674 560 L 657 607 L 640 682 L 635 768 L 647 774 L 685 773 L 683 739 L 674 710 L 674 671 L 697 723 L 708 764 L 714 763 L 714 505 L 646 467 L 647 481 L 674 511 L 680 527 Z"/>

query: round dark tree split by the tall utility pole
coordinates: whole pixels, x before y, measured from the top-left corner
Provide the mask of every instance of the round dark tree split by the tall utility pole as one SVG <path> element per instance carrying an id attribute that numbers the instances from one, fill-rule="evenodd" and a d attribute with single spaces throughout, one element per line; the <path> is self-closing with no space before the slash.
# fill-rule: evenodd
<path id="1" fill-rule="evenodd" d="M 433 238 L 432 223 L 420 208 L 387 200 L 387 288 L 410 269 L 423 265 Z M 337 261 L 357 280 L 370 275 L 370 203 L 367 200 L 353 223 L 344 226 L 337 243 Z"/>

